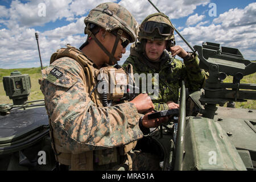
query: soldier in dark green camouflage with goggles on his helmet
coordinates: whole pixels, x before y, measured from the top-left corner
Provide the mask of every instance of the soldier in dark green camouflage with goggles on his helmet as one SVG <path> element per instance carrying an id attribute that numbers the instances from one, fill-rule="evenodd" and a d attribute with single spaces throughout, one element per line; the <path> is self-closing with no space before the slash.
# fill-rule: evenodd
<path id="1" fill-rule="evenodd" d="M 163 13 L 148 15 L 139 27 L 138 40 L 131 46 L 123 68 L 131 64 L 134 73 L 159 73 L 158 83 L 152 80 L 152 85 L 159 84 L 159 96 L 152 99 L 156 110 L 179 108 L 181 80 L 185 80 L 190 93 L 202 88 L 205 73 L 199 68 L 199 59 L 175 46 L 174 29 L 168 16 Z M 174 59 L 175 55 L 182 57 L 184 63 Z M 142 83 L 137 84 L 142 87 Z"/>

